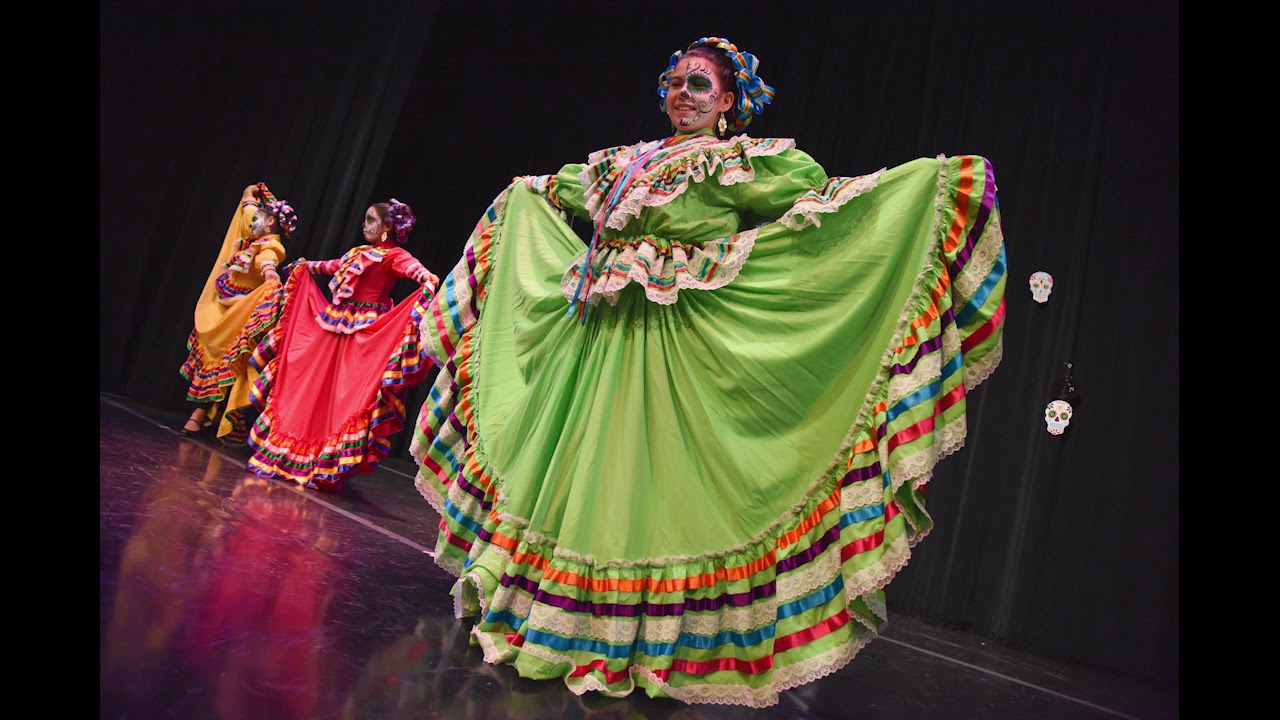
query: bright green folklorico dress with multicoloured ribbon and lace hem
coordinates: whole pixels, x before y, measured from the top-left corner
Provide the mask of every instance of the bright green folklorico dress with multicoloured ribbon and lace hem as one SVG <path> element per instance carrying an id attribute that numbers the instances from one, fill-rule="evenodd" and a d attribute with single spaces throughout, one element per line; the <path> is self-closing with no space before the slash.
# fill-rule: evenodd
<path id="1" fill-rule="evenodd" d="M 995 193 L 980 156 L 710 135 L 513 181 L 422 320 L 412 443 L 485 660 L 756 707 L 847 664 L 1000 363 Z"/>

